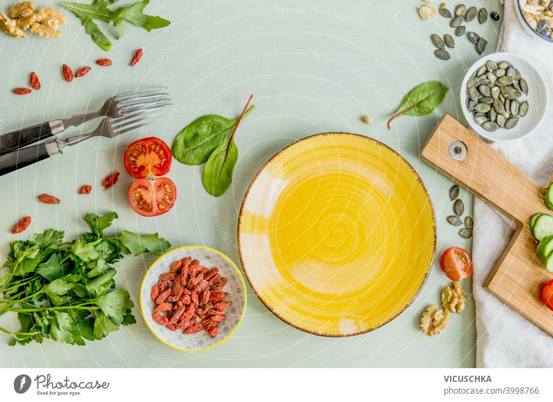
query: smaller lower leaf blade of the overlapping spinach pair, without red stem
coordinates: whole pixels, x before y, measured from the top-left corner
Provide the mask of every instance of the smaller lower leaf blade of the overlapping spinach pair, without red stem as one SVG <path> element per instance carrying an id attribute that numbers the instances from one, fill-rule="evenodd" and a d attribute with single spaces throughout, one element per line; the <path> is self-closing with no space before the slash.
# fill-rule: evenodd
<path id="1" fill-rule="evenodd" d="M 223 144 L 212 153 L 203 171 L 203 186 L 205 190 L 218 197 L 223 195 L 232 184 L 232 175 L 238 161 L 238 149 L 234 140 L 228 146 Z"/>

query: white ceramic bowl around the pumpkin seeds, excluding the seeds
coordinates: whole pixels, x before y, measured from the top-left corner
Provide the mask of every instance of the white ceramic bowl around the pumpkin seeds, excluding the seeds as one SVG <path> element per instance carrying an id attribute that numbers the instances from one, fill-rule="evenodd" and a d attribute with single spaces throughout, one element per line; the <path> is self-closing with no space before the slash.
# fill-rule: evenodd
<path id="1" fill-rule="evenodd" d="M 518 120 L 518 124 L 510 130 L 498 128 L 498 130 L 494 132 L 485 131 L 479 124 L 476 124 L 472 113 L 467 109 L 467 81 L 487 60 L 493 60 L 496 63 L 499 61 L 509 61 L 509 63 L 513 64 L 513 66 L 521 72 L 522 77 L 528 84 L 528 96 L 525 97 L 525 95 L 523 95 L 521 98 L 526 99 L 529 103 L 528 113 L 525 117 L 521 117 L 521 119 Z M 532 131 L 536 129 L 543 120 L 543 117 L 545 117 L 548 96 L 547 86 L 543 77 L 527 59 L 523 59 L 523 57 L 512 53 L 497 52 L 478 59 L 476 63 L 469 68 L 467 74 L 465 74 L 465 78 L 462 80 L 460 99 L 462 113 L 465 115 L 465 119 L 467 119 L 469 126 L 478 133 L 478 135 L 491 141 L 508 141 L 518 140 L 529 135 L 529 133 L 532 133 Z"/>

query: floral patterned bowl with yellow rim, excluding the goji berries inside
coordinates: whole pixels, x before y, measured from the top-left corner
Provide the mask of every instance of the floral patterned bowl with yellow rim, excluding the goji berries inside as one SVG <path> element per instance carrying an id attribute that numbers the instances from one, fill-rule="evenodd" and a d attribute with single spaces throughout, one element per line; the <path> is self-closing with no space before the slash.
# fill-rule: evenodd
<path id="1" fill-rule="evenodd" d="M 173 332 L 153 321 L 152 312 L 156 304 L 151 300 L 151 287 L 158 283 L 160 274 L 169 272 L 172 262 L 187 256 L 199 260 L 201 265 L 209 269 L 217 267 L 221 276 L 228 280 L 223 290 L 229 293 L 227 300 L 232 301 L 232 305 L 226 310 L 227 318 L 219 325 L 217 336 L 209 336 L 205 331 L 196 334 L 182 334 L 180 330 Z M 234 334 L 245 309 L 246 289 L 242 274 L 230 258 L 209 247 L 178 247 L 163 254 L 149 267 L 140 287 L 140 312 L 152 334 L 165 345 L 185 352 L 200 352 L 221 345 Z"/>

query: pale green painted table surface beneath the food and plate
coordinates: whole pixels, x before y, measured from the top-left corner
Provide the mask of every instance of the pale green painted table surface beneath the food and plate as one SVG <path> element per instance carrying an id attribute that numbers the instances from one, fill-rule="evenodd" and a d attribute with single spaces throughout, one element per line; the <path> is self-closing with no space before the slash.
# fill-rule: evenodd
<path id="1" fill-rule="evenodd" d="M 4 10 L 14 1 L 3 1 Z M 301 3 L 301 5 L 300 5 Z M 471 1 L 467 5 L 476 5 Z M 479 1 L 489 12 L 497 0 Z M 388 4 L 389 6 L 386 6 Z M 208 352 L 187 354 L 162 345 L 140 317 L 104 341 L 86 347 L 46 341 L 42 345 L 8 347 L 0 336 L 3 367 L 473 367 L 476 354 L 474 300 L 465 314 L 454 316 L 440 336 L 424 336 L 420 314 L 439 303 L 449 281 L 438 258 L 451 246 L 470 249 L 458 228 L 449 226 L 451 181 L 418 160 L 420 146 L 444 113 L 462 119 L 458 93 L 463 71 L 476 59 L 466 37 L 451 60 L 433 56 L 431 33 L 452 33 L 439 17 L 422 21 L 421 1 L 331 0 L 151 0 L 147 10 L 171 20 L 171 26 L 146 32 L 126 26 L 126 34 L 104 52 L 93 44 L 73 15 L 61 39 L 12 39 L 0 35 L 0 132 L 37 122 L 93 110 L 114 93 L 137 87 L 169 87 L 174 106 L 164 119 L 140 133 L 116 140 L 90 140 L 62 157 L 54 157 L 1 180 L 0 253 L 4 260 L 12 224 L 32 216 L 34 231 L 55 227 L 73 238 L 86 230 L 80 219 L 86 212 L 117 211 L 118 229 L 159 231 L 172 245 L 208 245 L 239 263 L 236 222 L 243 195 L 255 173 L 274 153 L 294 140 L 325 131 L 348 131 L 373 137 L 400 152 L 427 185 L 438 221 L 438 251 L 429 279 L 418 298 L 391 323 L 374 332 L 351 338 L 319 338 L 285 325 L 268 312 L 248 287 L 243 323 L 232 338 Z M 449 4 L 452 9 L 455 4 Z M 58 1 L 37 0 L 37 6 L 60 8 Z M 438 3 L 435 3 L 438 6 Z M 500 23 L 469 24 L 487 37 L 487 52 L 496 46 Z M 136 48 L 144 48 L 138 66 L 129 68 Z M 111 57 L 114 66 L 100 68 L 95 59 Z M 74 68 L 93 66 L 88 76 L 72 84 L 60 74 L 62 63 Z M 42 89 L 16 97 L 12 88 L 26 86 L 35 70 Z M 386 130 L 387 117 L 413 86 L 441 79 L 451 87 L 442 105 L 427 117 L 402 117 Z M 172 211 L 159 218 L 142 218 L 131 211 L 126 194 L 131 178 L 124 173 L 122 152 L 131 141 L 158 135 L 171 144 L 176 133 L 195 117 L 208 113 L 236 116 L 247 96 L 254 93 L 257 109 L 238 131 L 240 150 L 234 184 L 221 198 L 212 198 L 201 183 L 202 167 L 174 162 L 169 176 L 178 186 Z M 373 124 L 359 119 L 368 114 Z M 94 125 L 93 125 L 94 126 Z M 86 128 L 91 128 L 90 125 Z M 64 135 L 79 133 L 73 128 Z M 109 191 L 102 179 L 121 171 Z M 93 193 L 77 195 L 82 184 Z M 58 206 L 40 204 L 39 193 L 62 199 Z M 471 195 L 461 191 L 471 213 Z M 125 258 L 118 269 L 118 284 L 138 301 L 138 289 L 152 256 Z M 470 283 L 464 282 L 470 293 Z M 15 316 L 3 316 L 0 325 L 17 325 Z"/>

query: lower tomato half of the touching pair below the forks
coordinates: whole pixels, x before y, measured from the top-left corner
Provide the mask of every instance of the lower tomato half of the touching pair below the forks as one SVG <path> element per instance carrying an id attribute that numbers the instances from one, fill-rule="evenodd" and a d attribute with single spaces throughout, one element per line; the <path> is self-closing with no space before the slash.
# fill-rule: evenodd
<path id="1" fill-rule="evenodd" d="M 169 178 L 138 179 L 129 189 L 129 204 L 142 216 L 158 216 L 168 212 L 177 198 L 177 189 Z"/>

